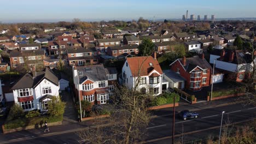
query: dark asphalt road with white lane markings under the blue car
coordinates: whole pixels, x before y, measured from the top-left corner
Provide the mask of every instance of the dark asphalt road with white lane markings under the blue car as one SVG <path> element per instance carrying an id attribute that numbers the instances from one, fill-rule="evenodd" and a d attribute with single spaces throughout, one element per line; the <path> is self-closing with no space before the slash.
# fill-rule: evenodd
<path id="1" fill-rule="evenodd" d="M 205 110 L 198 110 L 196 112 L 200 114 L 200 117 L 196 119 L 188 119 L 187 121 L 183 121 L 176 117 L 175 135 L 182 134 L 182 132 L 184 134 L 189 133 L 188 135 L 184 136 L 184 139 L 187 141 L 193 139 L 202 139 L 209 135 L 216 135 L 216 133 L 218 133 L 218 126 L 220 125 L 222 111 L 225 111 L 223 123 L 245 121 L 255 118 L 256 116 L 256 107 L 244 107 L 241 104 L 232 104 L 213 107 Z M 172 113 L 172 111 L 166 112 Z M 217 128 L 211 129 L 213 127 Z M 149 123 L 146 130 L 148 134 L 146 138 L 146 141 L 148 141 L 147 143 L 171 143 L 170 136 L 172 134 L 172 115 L 156 116 Z M 27 137 L 27 139 L 16 140 L 13 143 L 79 143 L 79 136 L 76 134 L 76 132 L 67 132 L 64 134 L 53 133 L 48 136 Z"/>

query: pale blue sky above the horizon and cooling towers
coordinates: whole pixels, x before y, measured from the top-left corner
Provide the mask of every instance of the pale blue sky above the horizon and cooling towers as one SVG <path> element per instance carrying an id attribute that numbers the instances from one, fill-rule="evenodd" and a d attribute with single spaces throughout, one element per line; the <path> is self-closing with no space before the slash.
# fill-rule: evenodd
<path id="1" fill-rule="evenodd" d="M 182 19 L 189 15 L 216 18 L 256 17 L 255 0 L 1 0 L 0 22 Z"/>

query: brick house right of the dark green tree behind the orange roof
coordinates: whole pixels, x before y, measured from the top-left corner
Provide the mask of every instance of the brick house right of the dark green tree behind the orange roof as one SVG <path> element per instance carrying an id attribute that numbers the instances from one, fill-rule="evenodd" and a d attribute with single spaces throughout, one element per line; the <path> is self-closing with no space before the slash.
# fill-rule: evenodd
<path id="1" fill-rule="evenodd" d="M 158 53 L 174 51 L 174 46 L 177 45 L 175 41 L 163 41 L 154 44 L 155 51 Z"/>

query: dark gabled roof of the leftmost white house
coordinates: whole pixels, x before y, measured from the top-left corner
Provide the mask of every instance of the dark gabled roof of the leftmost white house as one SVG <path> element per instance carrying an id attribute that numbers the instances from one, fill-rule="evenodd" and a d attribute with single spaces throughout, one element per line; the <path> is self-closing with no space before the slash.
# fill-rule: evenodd
<path id="1" fill-rule="evenodd" d="M 43 79 L 48 79 L 53 82 L 55 85 L 59 86 L 59 80 L 57 76 L 48 68 L 45 68 L 44 71 L 37 72 L 34 77 L 32 74 L 25 74 L 21 79 L 16 82 L 16 84 L 11 89 L 21 89 L 21 88 L 34 88 L 36 87 Z"/>

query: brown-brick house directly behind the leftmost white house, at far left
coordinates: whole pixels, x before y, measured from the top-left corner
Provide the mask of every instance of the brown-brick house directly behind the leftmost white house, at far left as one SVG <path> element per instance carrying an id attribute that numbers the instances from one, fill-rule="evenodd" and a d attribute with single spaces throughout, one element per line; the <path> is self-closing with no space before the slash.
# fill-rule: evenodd
<path id="1" fill-rule="evenodd" d="M 45 58 L 43 50 L 34 51 L 11 51 L 10 52 L 10 67 L 11 69 L 27 66 L 31 70 L 35 70 L 37 66 L 43 66 Z"/>

